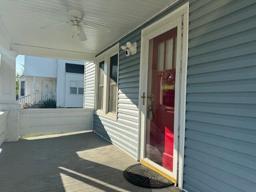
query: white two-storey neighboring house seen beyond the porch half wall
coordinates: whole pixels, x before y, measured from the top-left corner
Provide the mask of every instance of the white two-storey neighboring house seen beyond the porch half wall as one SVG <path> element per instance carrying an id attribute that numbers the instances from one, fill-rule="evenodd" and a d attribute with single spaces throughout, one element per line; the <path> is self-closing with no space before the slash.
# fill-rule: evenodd
<path id="1" fill-rule="evenodd" d="M 55 99 L 57 107 L 83 107 L 84 61 L 25 56 L 18 97 L 26 96 L 27 104 Z"/>

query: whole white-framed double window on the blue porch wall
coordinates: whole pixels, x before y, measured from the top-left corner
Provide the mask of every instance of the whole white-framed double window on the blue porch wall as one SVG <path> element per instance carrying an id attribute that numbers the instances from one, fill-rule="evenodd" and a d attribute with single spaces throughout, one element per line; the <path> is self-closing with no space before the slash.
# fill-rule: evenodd
<path id="1" fill-rule="evenodd" d="M 118 95 L 119 44 L 108 49 L 96 58 L 97 95 L 96 106 L 100 115 L 116 119 Z"/>

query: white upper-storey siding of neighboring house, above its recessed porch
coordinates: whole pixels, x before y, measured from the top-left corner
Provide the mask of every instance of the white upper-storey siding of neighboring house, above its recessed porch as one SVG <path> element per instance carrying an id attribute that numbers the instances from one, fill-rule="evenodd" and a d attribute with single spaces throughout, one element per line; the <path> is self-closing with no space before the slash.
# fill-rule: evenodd
<path id="1" fill-rule="evenodd" d="M 36 77 L 57 77 L 58 59 L 47 57 L 24 57 L 24 75 Z"/>

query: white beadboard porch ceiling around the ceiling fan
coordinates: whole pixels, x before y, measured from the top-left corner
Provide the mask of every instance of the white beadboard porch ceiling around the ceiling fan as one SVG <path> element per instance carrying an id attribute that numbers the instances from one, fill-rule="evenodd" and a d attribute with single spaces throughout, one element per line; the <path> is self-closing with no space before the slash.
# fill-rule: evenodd
<path id="1" fill-rule="evenodd" d="M 0 16 L 12 44 L 96 54 L 130 32 L 174 0 L 0 0 Z M 68 21 L 62 12 L 78 9 L 84 19 L 109 26 L 111 33 L 84 27 L 87 41 L 72 39 L 70 26 L 41 30 Z"/>

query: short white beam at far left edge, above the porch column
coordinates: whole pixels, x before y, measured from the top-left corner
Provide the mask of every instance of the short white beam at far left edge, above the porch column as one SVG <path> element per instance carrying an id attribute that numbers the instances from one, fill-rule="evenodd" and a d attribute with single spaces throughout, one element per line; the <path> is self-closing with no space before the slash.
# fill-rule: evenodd
<path id="1" fill-rule="evenodd" d="M 0 16 L 0 50 L 5 49 L 7 51 L 10 50 L 10 45 L 12 44 L 12 39 L 8 33 L 8 30 Z"/>

